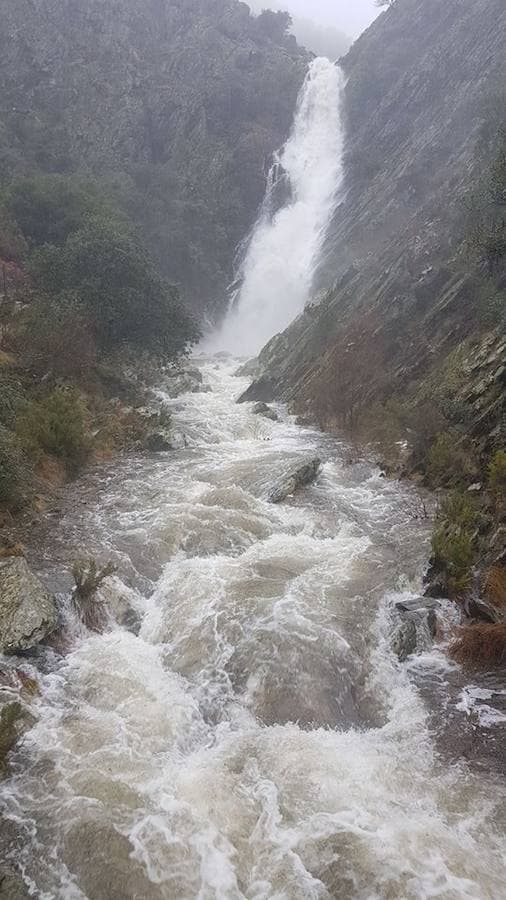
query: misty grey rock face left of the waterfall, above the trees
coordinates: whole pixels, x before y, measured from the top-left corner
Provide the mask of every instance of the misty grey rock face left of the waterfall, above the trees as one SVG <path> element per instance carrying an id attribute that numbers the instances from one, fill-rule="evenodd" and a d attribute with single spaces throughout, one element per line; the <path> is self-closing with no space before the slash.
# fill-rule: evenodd
<path id="1" fill-rule="evenodd" d="M 201 311 L 254 221 L 307 59 L 237 0 L 5 0 L 2 171 L 102 178 Z"/>

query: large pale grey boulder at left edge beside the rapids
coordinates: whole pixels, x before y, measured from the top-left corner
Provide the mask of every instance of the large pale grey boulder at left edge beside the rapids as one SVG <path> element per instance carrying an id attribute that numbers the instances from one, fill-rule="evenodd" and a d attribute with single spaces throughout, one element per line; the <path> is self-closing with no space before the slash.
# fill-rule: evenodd
<path id="1" fill-rule="evenodd" d="M 23 557 L 0 560 L 0 652 L 30 650 L 54 631 L 54 597 Z"/>

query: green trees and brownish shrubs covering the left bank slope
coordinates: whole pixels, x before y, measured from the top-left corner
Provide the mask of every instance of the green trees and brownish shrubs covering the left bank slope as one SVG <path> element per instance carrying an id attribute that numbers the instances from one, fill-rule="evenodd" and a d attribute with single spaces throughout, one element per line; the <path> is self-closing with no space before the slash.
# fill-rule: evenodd
<path id="1" fill-rule="evenodd" d="M 174 359 L 198 330 L 92 181 L 17 179 L 0 203 L 0 509 L 12 513 L 41 476 L 142 437 L 135 412 L 119 420 L 108 404 L 121 382 L 109 370 L 130 352 Z"/>

